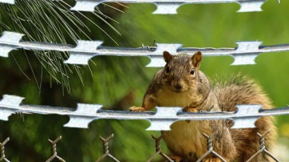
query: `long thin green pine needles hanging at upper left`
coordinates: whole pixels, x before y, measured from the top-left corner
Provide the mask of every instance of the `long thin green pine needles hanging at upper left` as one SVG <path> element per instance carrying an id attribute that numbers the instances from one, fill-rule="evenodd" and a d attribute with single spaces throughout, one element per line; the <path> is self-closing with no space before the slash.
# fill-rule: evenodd
<path id="1" fill-rule="evenodd" d="M 105 5 L 109 6 L 107 4 Z M 123 11 L 116 9 L 113 6 L 109 7 L 123 13 Z M 71 6 L 64 1 L 17 1 L 14 5 L 0 4 L 0 28 L 1 31 L 24 33 L 24 41 L 63 44 L 73 41 L 73 43 L 77 43 L 77 40 L 79 39 L 91 40 L 88 36 L 88 33 L 90 33 L 91 30 L 81 21 L 82 19 L 88 20 L 88 22 L 99 28 L 108 38 L 111 38 L 111 40 L 116 43 L 112 36 L 101 28 L 100 25 L 83 15 L 83 13 L 70 11 L 70 8 Z M 106 25 L 117 34 L 120 34 L 107 20 L 113 21 L 114 23 L 118 22 L 103 14 L 98 8 L 96 12 L 93 12 L 93 16 L 103 21 L 103 23 L 106 23 Z M 84 36 L 85 38 L 81 38 L 79 35 L 80 33 L 81 36 Z M 39 92 L 41 92 L 41 82 L 43 80 L 42 77 L 44 77 L 44 70 L 47 75 L 49 75 L 49 78 L 51 78 L 51 85 L 52 80 L 56 83 L 61 83 L 62 89 L 66 89 L 67 92 L 70 92 L 70 74 L 76 73 L 83 85 L 80 67 L 77 65 L 64 64 L 64 60 L 69 57 L 69 53 L 34 50 L 34 56 L 40 64 L 31 63 L 29 60 L 31 57 L 27 57 L 30 53 L 31 52 L 28 52 L 26 54 L 26 59 L 34 80 L 36 81 L 36 85 L 39 88 Z M 24 76 L 28 77 L 29 75 L 26 75 L 27 71 L 22 70 L 17 60 L 15 61 Z M 41 68 L 37 68 L 39 70 L 36 70 L 35 68 L 37 65 L 41 65 Z M 37 79 L 38 77 L 40 78 L 40 83 L 37 81 L 39 80 Z"/>

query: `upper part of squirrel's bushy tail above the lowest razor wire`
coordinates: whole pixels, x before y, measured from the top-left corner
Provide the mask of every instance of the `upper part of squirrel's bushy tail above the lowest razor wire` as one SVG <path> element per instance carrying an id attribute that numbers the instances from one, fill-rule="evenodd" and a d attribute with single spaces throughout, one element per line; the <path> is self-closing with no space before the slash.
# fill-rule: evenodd
<path id="1" fill-rule="evenodd" d="M 244 75 L 233 75 L 227 79 L 217 79 L 213 89 L 220 109 L 235 111 L 237 104 L 261 104 L 263 109 L 272 108 L 272 102 L 255 80 Z"/>

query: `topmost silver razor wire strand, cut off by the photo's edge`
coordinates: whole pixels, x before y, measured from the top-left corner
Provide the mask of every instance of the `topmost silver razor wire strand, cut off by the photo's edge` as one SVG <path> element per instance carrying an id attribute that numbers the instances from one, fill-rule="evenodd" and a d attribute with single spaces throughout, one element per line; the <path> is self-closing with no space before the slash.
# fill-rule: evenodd
<path id="1" fill-rule="evenodd" d="M 94 11 L 99 4 L 106 2 L 121 3 L 150 3 L 157 6 L 154 14 L 176 14 L 178 7 L 183 4 L 225 4 L 238 3 L 240 9 L 238 12 L 262 11 L 261 6 L 267 0 L 77 0 L 73 11 Z M 280 3 L 280 0 L 278 0 Z M 0 0 L 0 3 L 15 4 L 15 0 Z"/>

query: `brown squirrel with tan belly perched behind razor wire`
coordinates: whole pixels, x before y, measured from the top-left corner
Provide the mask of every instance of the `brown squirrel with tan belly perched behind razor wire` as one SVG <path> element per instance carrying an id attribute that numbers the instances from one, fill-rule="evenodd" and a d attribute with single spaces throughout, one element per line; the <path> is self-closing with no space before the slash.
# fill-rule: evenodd
<path id="1" fill-rule="evenodd" d="M 183 107 L 183 112 L 233 112 L 237 104 L 261 104 L 271 109 L 272 103 L 255 81 L 243 75 L 234 75 L 229 80 L 220 80 L 214 85 L 200 70 L 201 52 L 189 55 L 171 55 L 163 51 L 166 65 L 153 77 L 143 97 L 141 107 L 131 107 L 132 112 L 143 112 L 153 107 Z M 203 133 L 213 134 L 213 151 L 226 161 L 247 161 L 260 150 L 257 132 L 264 134 L 265 146 L 272 148 L 276 128 L 273 117 L 260 117 L 253 129 L 230 129 L 233 121 L 204 120 L 176 121 L 164 141 L 175 161 L 197 161 L 208 151 Z M 254 161 L 272 161 L 260 153 Z M 221 161 L 210 155 L 203 161 Z"/>

